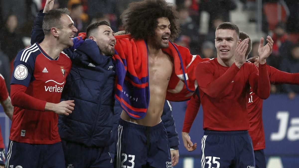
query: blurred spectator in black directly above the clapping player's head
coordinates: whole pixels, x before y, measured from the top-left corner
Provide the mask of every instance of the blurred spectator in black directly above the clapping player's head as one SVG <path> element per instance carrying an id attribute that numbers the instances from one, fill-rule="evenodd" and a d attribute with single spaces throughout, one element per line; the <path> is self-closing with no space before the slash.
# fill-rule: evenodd
<path id="1" fill-rule="evenodd" d="M 224 22 L 230 22 L 229 12 L 237 8 L 237 2 L 234 0 L 203 0 L 200 3 L 201 10 L 210 14 L 209 31 L 213 30 L 213 20 L 222 17 Z"/>

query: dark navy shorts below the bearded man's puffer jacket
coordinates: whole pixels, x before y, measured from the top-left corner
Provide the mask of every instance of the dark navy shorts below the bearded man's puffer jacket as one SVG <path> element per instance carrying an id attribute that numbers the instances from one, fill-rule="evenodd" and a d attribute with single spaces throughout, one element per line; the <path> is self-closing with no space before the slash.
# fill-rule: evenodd
<path id="1" fill-rule="evenodd" d="M 80 143 L 62 140 L 67 168 L 113 168 L 109 146 L 89 147 Z"/>

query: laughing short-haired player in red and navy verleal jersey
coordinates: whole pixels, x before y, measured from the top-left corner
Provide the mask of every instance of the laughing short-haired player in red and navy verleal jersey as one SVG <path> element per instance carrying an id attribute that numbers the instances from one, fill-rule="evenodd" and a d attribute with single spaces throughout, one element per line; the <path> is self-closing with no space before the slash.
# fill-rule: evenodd
<path id="1" fill-rule="evenodd" d="M 58 114 L 74 110 L 74 100 L 60 102 L 71 70 L 71 60 L 62 50 L 73 45 L 77 32 L 69 13 L 50 10 L 42 24 L 44 40 L 23 49 L 14 60 L 7 167 L 65 167 L 57 124 Z"/>

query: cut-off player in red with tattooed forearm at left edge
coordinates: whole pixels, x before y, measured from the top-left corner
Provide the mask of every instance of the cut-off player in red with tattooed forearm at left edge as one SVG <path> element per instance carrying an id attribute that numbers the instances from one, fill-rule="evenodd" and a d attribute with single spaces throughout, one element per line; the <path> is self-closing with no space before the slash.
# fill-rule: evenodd
<path id="1" fill-rule="evenodd" d="M 0 103 L 5 114 L 11 120 L 13 117 L 13 106 L 11 105 L 10 97 L 6 88 L 4 77 L 0 74 Z M 5 150 L 0 127 L 0 168 L 4 168 L 5 164 Z"/>

